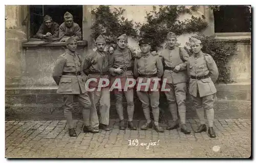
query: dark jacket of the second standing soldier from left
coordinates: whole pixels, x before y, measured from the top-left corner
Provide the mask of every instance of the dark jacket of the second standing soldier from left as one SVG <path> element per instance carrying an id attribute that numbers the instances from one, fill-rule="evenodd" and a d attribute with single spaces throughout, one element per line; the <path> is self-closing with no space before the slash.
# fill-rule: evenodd
<path id="1" fill-rule="evenodd" d="M 89 88 L 98 87 L 99 79 L 109 79 L 109 75 L 99 75 L 93 73 L 90 74 L 90 72 L 109 72 L 109 54 L 107 54 L 106 52 L 99 52 L 98 50 L 90 53 L 88 56 L 86 56 L 82 69 L 84 74 L 88 74 L 88 79 L 97 79 L 96 82 L 91 81 L 89 83 Z M 102 84 L 105 84 L 105 82 L 103 81 Z"/>

